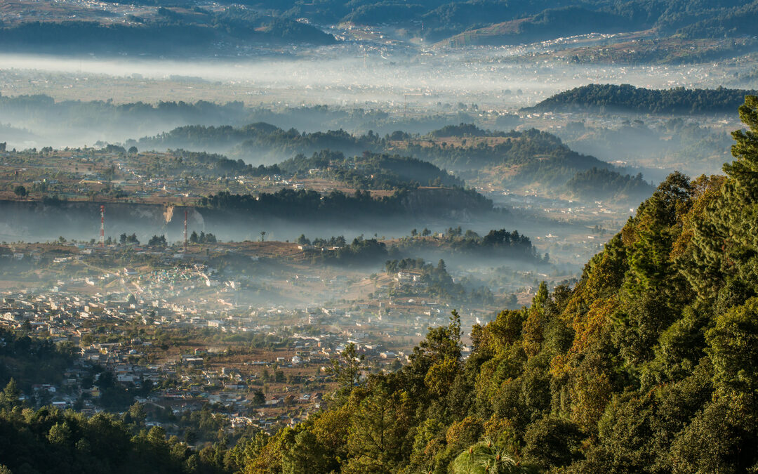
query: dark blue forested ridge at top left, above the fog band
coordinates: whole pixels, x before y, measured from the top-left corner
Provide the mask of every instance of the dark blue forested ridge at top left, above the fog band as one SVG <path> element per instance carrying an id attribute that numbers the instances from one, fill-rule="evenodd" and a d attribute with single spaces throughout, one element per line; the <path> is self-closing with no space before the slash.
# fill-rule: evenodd
<path id="1" fill-rule="evenodd" d="M 161 7 L 144 17 L 130 14 L 119 23 L 99 20 L 34 20 L 6 25 L 0 27 L 0 46 L 5 52 L 186 55 L 337 42 L 334 36 L 309 24 L 236 7 L 215 12 Z"/>

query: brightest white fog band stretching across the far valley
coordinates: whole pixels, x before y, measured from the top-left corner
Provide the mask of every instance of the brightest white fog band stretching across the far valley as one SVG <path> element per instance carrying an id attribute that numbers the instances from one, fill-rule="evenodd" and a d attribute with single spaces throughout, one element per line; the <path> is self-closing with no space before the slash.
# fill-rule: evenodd
<path id="1" fill-rule="evenodd" d="M 480 110 L 516 111 L 554 93 L 587 83 L 631 83 L 635 86 L 716 87 L 731 80 L 734 67 L 712 64 L 680 66 L 537 64 L 515 59 L 519 48 L 475 48 L 462 52 L 375 51 L 353 44 L 316 49 L 295 58 L 199 58 L 193 61 L 135 57 L 66 58 L 0 54 L 3 96 L 44 93 L 56 100 L 108 100 L 149 103 L 209 100 L 274 108 L 330 105 L 374 108 L 397 121 L 428 115 L 450 104 L 478 104 Z M 740 66 L 744 69 L 747 66 Z M 444 106 L 447 105 L 447 108 Z M 65 117 L 0 123 L 29 130 L 36 137 L 6 139 L 15 148 L 83 146 L 102 140 L 123 142 L 182 125 L 177 121 L 124 123 L 116 127 L 88 124 L 67 128 Z M 221 123 L 218 123 L 221 124 Z M 324 127 L 351 130 L 354 124 Z M 287 127 L 283 124 L 284 127 Z M 317 131 L 318 124 L 311 129 Z"/>

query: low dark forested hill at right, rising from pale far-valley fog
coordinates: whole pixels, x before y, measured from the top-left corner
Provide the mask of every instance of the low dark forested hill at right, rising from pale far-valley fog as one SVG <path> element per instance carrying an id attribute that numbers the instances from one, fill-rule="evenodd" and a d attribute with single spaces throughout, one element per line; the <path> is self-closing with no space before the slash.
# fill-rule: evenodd
<path id="1" fill-rule="evenodd" d="M 642 114 L 727 114 L 756 91 L 741 89 L 645 89 L 629 84 L 587 84 L 549 97 L 525 111 L 628 111 Z"/>

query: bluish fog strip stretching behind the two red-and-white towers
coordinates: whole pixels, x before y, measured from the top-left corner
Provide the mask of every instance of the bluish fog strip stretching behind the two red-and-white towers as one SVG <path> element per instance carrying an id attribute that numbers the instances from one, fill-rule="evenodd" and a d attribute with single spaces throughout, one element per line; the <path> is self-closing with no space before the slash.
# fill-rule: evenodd
<path id="1" fill-rule="evenodd" d="M 64 237 L 67 240 L 87 242 L 99 240 L 100 213 L 98 202 L 71 202 L 55 206 L 42 206 L 34 202 L 0 202 L 0 242 L 50 242 Z M 105 237 L 117 240 L 121 234 L 136 234 L 140 242 L 146 243 L 150 237 L 165 236 L 169 243 L 183 241 L 183 218 L 185 208 L 174 208 L 171 218 L 166 218 L 162 206 L 136 204 L 106 204 Z M 432 232 L 445 232 L 447 228 L 461 226 L 480 235 L 493 229 L 518 231 L 532 237 L 532 242 L 540 253 L 547 251 L 536 237 L 557 234 L 568 235 L 587 233 L 587 223 L 559 222 L 540 218 L 529 213 L 506 213 L 474 215 L 468 218 L 427 218 L 423 216 L 402 216 L 387 218 L 353 218 L 342 221 L 311 220 L 297 221 L 282 218 L 252 218 L 248 215 L 218 213 L 203 209 L 188 209 L 188 232 L 214 234 L 218 240 L 256 241 L 265 231 L 265 240 L 294 242 L 301 234 L 311 239 L 315 237 L 337 237 L 342 235 L 348 241 L 362 236 L 380 240 L 404 237 L 412 229 L 421 231 L 428 228 Z M 623 220 L 623 219 L 622 219 Z M 606 228 L 613 228 L 608 218 L 598 218 L 597 222 Z M 591 227 L 591 226 L 589 226 Z M 560 262 L 583 262 L 584 255 L 577 256 L 574 250 L 551 248 L 551 259 Z M 587 254 L 589 255 L 589 254 Z M 467 257 L 468 258 L 468 257 Z"/>

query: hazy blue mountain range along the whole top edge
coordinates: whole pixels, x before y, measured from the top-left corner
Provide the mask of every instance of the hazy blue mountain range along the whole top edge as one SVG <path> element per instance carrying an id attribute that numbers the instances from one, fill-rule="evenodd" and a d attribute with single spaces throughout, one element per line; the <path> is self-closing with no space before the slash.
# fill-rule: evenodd
<path id="1" fill-rule="evenodd" d="M 753 36 L 758 20 L 758 2 L 745 0 L 225 0 L 212 6 L 192 0 L 119 2 L 132 5 L 131 14 L 109 3 L 83 14 L 16 6 L 0 20 L 0 46 L 6 51 L 139 54 L 321 46 L 337 39 L 318 25 L 335 24 L 392 27 L 401 36 L 453 47 L 640 30 L 654 36 L 736 38 Z"/>

